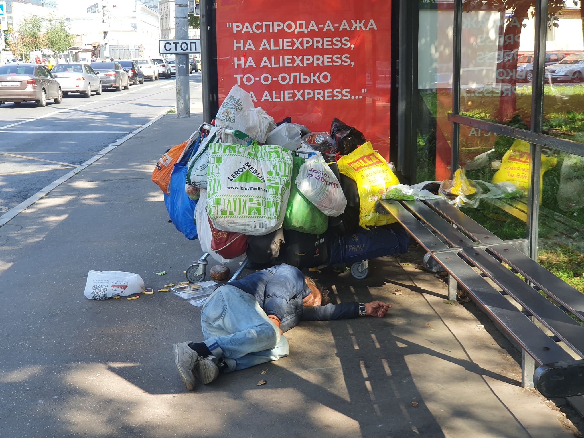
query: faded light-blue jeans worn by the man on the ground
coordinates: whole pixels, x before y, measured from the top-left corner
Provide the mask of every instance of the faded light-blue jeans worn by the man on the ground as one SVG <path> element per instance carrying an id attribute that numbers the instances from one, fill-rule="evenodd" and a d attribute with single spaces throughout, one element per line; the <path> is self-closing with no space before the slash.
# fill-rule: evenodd
<path id="1" fill-rule="evenodd" d="M 213 356 L 223 357 L 229 373 L 288 356 L 286 336 L 267 317 L 258 301 L 225 284 L 208 298 L 201 311 L 204 343 Z"/>

